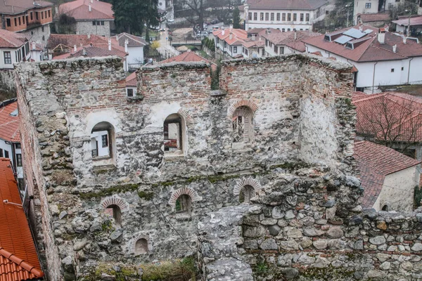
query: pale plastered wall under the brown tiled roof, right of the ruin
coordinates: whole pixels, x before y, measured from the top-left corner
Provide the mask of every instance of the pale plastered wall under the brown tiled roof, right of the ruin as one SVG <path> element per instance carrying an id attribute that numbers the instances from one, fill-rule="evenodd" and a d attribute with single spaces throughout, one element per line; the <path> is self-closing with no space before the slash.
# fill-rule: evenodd
<path id="1" fill-rule="evenodd" d="M 385 176 L 383 189 L 373 204 L 373 209 L 380 211 L 388 204 L 389 211 L 412 211 L 414 187 L 417 184 L 414 181 L 415 173 L 416 166 L 413 166 Z"/>

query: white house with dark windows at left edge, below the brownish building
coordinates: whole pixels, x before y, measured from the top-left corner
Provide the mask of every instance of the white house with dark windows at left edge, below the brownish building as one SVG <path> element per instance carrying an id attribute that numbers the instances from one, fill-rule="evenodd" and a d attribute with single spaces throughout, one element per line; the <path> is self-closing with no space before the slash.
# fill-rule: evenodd
<path id="1" fill-rule="evenodd" d="M 13 63 L 30 60 L 30 43 L 27 37 L 23 33 L 0 30 L 0 69 L 13 69 Z"/>

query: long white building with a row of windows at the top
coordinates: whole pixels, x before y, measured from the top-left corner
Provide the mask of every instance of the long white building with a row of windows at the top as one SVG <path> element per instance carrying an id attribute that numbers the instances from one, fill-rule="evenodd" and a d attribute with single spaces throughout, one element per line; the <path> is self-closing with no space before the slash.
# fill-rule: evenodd
<path id="1" fill-rule="evenodd" d="M 312 30 L 314 22 L 324 20 L 326 0 L 248 0 L 239 8 L 245 30 L 275 28 L 282 31 Z"/>

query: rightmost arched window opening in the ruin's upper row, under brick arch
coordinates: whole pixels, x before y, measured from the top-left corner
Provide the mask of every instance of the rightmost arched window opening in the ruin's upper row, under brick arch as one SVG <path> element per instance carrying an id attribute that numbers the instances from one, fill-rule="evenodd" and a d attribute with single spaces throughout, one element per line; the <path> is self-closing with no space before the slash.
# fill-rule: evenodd
<path id="1" fill-rule="evenodd" d="M 252 141 L 253 112 L 247 106 L 238 107 L 232 117 L 232 141 L 234 143 L 249 143 Z"/>

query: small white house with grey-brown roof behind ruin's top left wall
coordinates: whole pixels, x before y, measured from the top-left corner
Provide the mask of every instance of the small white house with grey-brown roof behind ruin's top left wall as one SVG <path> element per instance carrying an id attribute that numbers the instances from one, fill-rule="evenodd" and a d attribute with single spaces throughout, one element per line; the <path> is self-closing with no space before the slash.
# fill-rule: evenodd
<path id="1" fill-rule="evenodd" d="M 117 44 L 124 47 L 124 51 L 128 53 L 127 64 L 129 68 L 138 69 L 143 65 L 143 47 L 147 45 L 147 42 L 141 37 L 137 37 L 128 33 L 120 33 L 115 36 Z"/>

